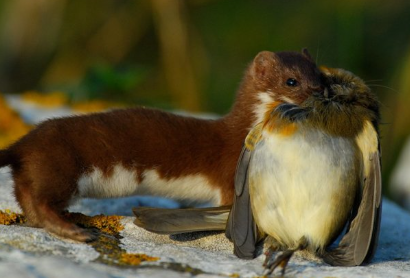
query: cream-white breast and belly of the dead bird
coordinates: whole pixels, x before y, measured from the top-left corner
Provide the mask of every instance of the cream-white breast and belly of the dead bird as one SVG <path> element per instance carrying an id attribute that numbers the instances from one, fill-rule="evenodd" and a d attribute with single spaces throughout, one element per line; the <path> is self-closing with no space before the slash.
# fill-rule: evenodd
<path id="1" fill-rule="evenodd" d="M 352 198 L 337 197 L 345 187 L 354 195 L 356 184 L 347 178 L 358 173 L 354 141 L 315 130 L 287 137 L 264 132 L 249 168 L 256 223 L 289 248 L 302 237 L 325 247 L 334 213 L 345 208 L 347 215 L 352 205 Z"/>

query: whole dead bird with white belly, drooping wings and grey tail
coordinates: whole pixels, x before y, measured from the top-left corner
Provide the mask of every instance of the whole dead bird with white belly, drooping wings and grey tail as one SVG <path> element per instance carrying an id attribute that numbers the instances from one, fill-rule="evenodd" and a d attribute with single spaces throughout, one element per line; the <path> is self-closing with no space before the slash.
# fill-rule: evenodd
<path id="1" fill-rule="evenodd" d="M 330 265 L 369 262 L 382 205 L 378 101 L 348 71 L 322 67 L 321 79 L 308 95 L 269 103 L 250 130 L 231 210 L 138 208 L 135 223 L 160 233 L 226 227 L 234 253 L 247 259 L 267 237 L 268 274 L 278 266 L 284 274 L 293 253 L 302 249 Z M 295 91 L 303 85 L 297 76 L 284 82 Z M 330 249 L 343 230 L 339 245 Z M 274 257 L 276 251 L 282 252 Z"/>

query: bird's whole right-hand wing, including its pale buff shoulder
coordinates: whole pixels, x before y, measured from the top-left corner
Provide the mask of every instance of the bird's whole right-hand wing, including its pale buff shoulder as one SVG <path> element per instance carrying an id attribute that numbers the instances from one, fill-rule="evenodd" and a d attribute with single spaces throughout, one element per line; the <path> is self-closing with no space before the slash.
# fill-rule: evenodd
<path id="1" fill-rule="evenodd" d="M 357 214 L 339 246 L 327 251 L 323 259 L 330 265 L 356 266 L 373 258 L 379 237 L 382 210 L 380 147 L 376 129 L 370 122 L 357 137 L 363 154 L 363 190 Z"/>

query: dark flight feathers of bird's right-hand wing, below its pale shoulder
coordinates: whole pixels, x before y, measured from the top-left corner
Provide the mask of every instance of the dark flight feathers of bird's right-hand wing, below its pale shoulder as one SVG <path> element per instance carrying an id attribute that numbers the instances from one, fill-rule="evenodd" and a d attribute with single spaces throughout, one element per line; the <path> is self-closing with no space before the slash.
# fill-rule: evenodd
<path id="1" fill-rule="evenodd" d="M 368 263 L 376 251 L 382 208 L 379 152 L 370 154 L 369 159 L 369 176 L 365 177 L 362 200 L 350 229 L 339 246 L 323 256 L 330 265 L 356 266 Z"/>

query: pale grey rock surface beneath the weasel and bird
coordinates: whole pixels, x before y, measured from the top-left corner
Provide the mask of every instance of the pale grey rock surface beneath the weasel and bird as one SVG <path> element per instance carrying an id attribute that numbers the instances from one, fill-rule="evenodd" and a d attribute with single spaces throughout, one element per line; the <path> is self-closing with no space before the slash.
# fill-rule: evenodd
<path id="1" fill-rule="evenodd" d="M 0 210 L 20 211 L 12 194 L 8 168 L 0 171 Z M 150 200 L 148 200 L 149 202 Z M 152 200 L 151 200 L 152 201 Z M 147 202 L 147 200 L 145 200 Z M 138 198 L 81 200 L 71 210 L 88 214 L 127 215 Z M 160 205 L 174 206 L 160 200 Z M 124 210 L 124 211 L 121 211 Z M 221 233 L 164 236 L 149 233 L 124 217 L 119 248 L 127 253 L 158 257 L 139 266 L 107 265 L 104 254 L 91 245 L 59 239 L 42 229 L 0 225 L 0 277 L 240 277 L 261 276 L 264 255 L 241 260 Z M 388 200 L 384 210 L 379 249 L 373 262 L 361 267 L 331 267 L 311 255 L 291 259 L 289 277 L 410 277 L 410 215 Z"/>

